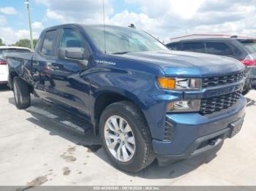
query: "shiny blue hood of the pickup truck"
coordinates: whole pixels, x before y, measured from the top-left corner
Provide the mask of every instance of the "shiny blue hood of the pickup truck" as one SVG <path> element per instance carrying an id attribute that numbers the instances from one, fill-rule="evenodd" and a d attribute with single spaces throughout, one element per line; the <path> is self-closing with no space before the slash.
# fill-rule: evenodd
<path id="1" fill-rule="evenodd" d="M 233 58 L 184 51 L 145 51 L 117 55 L 159 66 L 167 77 L 211 77 L 242 71 L 244 65 Z"/>

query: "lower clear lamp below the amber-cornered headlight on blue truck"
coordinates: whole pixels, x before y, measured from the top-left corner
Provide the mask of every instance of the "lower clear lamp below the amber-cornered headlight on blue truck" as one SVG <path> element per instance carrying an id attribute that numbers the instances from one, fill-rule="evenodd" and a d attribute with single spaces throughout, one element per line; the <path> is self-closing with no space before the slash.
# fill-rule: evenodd
<path id="1" fill-rule="evenodd" d="M 200 110 L 200 104 L 200 99 L 173 101 L 167 105 L 167 112 L 198 112 Z"/>

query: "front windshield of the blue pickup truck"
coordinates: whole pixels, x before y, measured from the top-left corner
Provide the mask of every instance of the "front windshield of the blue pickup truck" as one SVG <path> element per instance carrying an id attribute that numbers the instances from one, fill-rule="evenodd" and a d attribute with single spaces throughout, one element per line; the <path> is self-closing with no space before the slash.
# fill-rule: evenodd
<path id="1" fill-rule="evenodd" d="M 152 36 L 135 28 L 118 26 L 84 26 L 86 33 L 102 52 L 110 54 L 125 54 L 127 52 L 143 52 L 168 50 Z M 105 42 L 104 42 L 105 38 Z"/>

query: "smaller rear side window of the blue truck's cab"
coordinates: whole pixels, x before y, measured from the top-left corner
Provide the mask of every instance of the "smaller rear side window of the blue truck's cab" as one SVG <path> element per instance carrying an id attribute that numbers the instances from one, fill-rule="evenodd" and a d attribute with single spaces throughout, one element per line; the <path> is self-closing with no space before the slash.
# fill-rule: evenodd
<path id="1" fill-rule="evenodd" d="M 41 53 L 42 55 L 53 56 L 55 53 L 56 39 L 58 36 L 57 30 L 46 31 L 45 38 L 42 42 Z"/>

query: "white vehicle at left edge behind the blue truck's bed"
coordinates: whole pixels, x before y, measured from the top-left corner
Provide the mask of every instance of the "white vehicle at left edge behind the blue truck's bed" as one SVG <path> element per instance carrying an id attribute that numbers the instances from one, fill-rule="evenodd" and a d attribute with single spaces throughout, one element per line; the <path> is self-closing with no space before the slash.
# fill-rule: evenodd
<path id="1" fill-rule="evenodd" d="M 31 50 L 26 47 L 0 47 L 0 85 L 7 84 L 8 82 L 9 72 L 5 59 L 5 54 L 7 52 L 31 52 Z"/>

